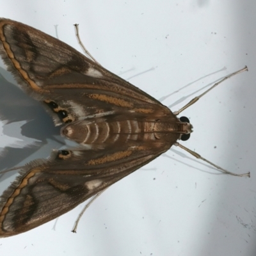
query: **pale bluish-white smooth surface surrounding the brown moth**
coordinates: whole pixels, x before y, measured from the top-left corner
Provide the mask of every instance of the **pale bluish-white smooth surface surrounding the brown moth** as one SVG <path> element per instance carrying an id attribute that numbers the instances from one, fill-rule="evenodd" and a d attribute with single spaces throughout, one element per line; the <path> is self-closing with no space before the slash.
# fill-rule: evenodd
<path id="1" fill-rule="evenodd" d="M 252 177 L 216 175 L 174 148 L 97 198 L 77 234 L 70 230 L 82 205 L 61 216 L 55 229 L 51 221 L 1 239 L 0 255 L 254 256 L 255 11 L 255 1 L 243 0 L 1 0 L 0 17 L 52 36 L 58 24 L 60 40 L 80 51 L 72 26 L 78 23 L 83 43 L 97 61 L 173 111 L 207 84 L 248 65 L 249 72 L 232 77 L 182 113 L 194 126 L 190 140 L 183 144 L 227 170 L 250 171 Z M 200 79 L 211 73 L 215 74 Z M 1 74 L 10 81 L 8 72 Z M 4 79 L 1 83 L 8 85 Z M 47 157 L 51 148 L 61 147 L 54 141 L 61 141 L 60 136 L 52 136 L 59 128 L 54 129 L 40 104 L 14 89 L 4 92 L 0 92 L 1 108 L 9 115 L 12 111 L 13 122 L 3 127 L 0 147 L 6 143 L 23 147 L 38 137 L 30 151 L 2 150 L 1 168 Z M 27 116 L 23 121 L 22 114 Z M 34 119 L 39 124 L 23 131 L 26 136 L 33 134 L 25 139 L 20 127 Z M 6 177 L 1 177 L 2 190 L 14 179 Z"/>

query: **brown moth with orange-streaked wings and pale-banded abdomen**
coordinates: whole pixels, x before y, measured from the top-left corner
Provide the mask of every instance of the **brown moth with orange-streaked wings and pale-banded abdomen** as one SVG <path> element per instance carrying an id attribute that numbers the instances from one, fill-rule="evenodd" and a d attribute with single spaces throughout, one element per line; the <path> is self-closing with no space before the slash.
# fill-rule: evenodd
<path id="1" fill-rule="evenodd" d="M 192 131 L 188 118 L 20 22 L 0 19 L 0 55 L 17 83 L 44 104 L 55 125 L 63 125 L 61 135 L 80 145 L 22 167 L 1 196 L 0 237 L 70 211 L 179 145 L 177 140 L 188 140 Z"/>

